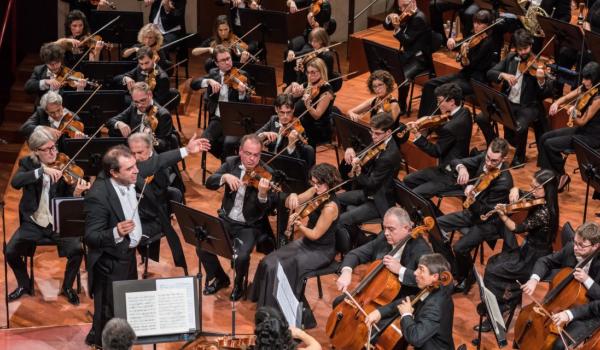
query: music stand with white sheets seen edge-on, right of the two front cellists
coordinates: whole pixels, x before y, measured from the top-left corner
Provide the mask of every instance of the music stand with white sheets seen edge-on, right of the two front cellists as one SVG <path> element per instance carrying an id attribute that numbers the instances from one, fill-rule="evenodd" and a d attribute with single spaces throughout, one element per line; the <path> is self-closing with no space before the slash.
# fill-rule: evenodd
<path id="1" fill-rule="evenodd" d="M 479 297 L 481 303 L 485 305 L 485 312 L 479 313 L 479 330 L 477 331 L 477 339 L 473 340 L 477 345 L 477 350 L 481 347 L 481 328 L 483 326 L 483 316 L 487 315 L 488 321 L 492 325 L 492 329 L 494 331 L 494 335 L 496 336 L 496 343 L 498 347 L 505 347 L 508 342 L 506 341 L 506 325 L 504 324 L 504 318 L 502 318 L 502 312 L 500 312 L 500 307 L 498 306 L 498 300 L 496 300 L 496 296 L 489 289 L 485 287 L 483 284 L 483 279 L 475 266 L 473 266 L 473 273 L 475 275 L 475 280 L 477 281 L 477 285 L 479 286 Z"/>

